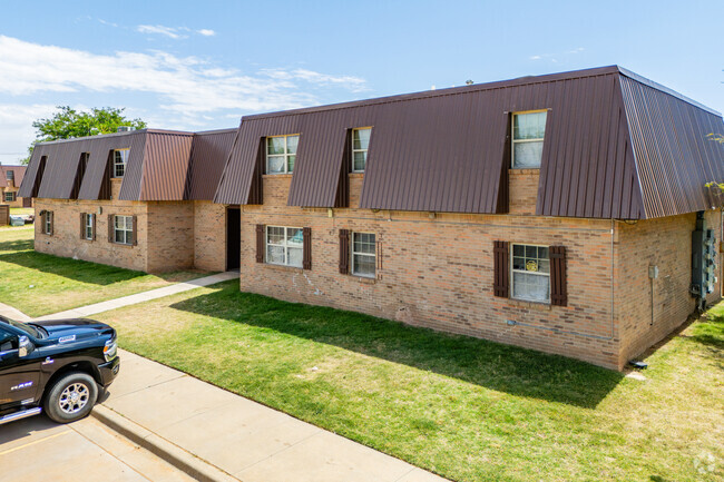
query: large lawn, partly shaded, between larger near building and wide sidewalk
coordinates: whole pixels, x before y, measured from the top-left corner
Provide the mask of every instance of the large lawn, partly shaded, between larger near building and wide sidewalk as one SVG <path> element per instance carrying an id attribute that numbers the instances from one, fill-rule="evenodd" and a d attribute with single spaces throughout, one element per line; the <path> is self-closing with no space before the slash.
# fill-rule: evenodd
<path id="1" fill-rule="evenodd" d="M 98 317 L 129 351 L 449 479 L 681 482 L 722 480 L 724 307 L 712 315 L 645 381 L 237 282 Z"/>

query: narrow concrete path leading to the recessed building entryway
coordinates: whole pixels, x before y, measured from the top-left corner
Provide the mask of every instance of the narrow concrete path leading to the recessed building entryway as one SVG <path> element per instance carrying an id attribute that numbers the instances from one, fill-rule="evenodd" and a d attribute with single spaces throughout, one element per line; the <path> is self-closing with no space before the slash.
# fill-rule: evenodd
<path id="1" fill-rule="evenodd" d="M 195 289 L 202 286 L 209 286 L 228 279 L 236 279 L 237 277 L 238 272 L 218 273 L 215 275 L 205 276 L 203 278 L 192 279 L 189 282 L 164 286 L 163 288 L 150 289 L 148 292 L 136 293 L 135 295 L 123 296 L 120 298 L 109 299 L 107 302 L 95 303 L 92 305 L 68 309 L 66 312 L 40 316 L 37 319 L 84 318 L 86 316 L 91 316 L 98 313 L 107 312 L 109 309 L 135 305 L 137 303 L 148 302 L 150 299 L 163 298 L 164 296 L 175 295 L 176 293 L 187 292 L 189 289 Z M 0 314 L 2 314 L 2 312 L 0 312 Z"/>

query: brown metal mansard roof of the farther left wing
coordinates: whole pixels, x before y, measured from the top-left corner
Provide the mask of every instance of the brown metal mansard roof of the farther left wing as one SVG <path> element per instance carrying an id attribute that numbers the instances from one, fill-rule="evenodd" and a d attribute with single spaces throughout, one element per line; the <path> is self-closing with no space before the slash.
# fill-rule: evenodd
<path id="1" fill-rule="evenodd" d="M 19 195 L 69 199 L 78 193 L 79 199 L 108 199 L 111 153 L 128 148 L 119 199 L 183 200 L 192 194 L 194 199 L 211 200 L 228 151 L 223 151 L 223 147 L 214 150 L 208 145 L 215 146 L 218 139 L 233 139 L 235 135 L 236 129 L 198 134 L 141 129 L 40 142 L 33 149 Z M 196 156 L 195 145 L 199 146 Z M 90 156 L 84 174 L 80 159 L 85 153 Z M 78 179 L 81 174 L 82 179 Z M 211 190 L 205 187 L 209 183 L 214 186 Z M 189 184 L 200 187 L 190 188 Z"/>

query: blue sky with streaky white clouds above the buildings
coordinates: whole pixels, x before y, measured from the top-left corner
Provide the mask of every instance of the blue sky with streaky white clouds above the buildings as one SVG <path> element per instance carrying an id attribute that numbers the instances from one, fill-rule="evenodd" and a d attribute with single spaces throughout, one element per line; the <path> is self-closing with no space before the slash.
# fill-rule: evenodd
<path id="1" fill-rule="evenodd" d="M 53 106 L 151 127 L 618 63 L 724 110 L 715 2 L 2 2 L 0 161 Z"/>

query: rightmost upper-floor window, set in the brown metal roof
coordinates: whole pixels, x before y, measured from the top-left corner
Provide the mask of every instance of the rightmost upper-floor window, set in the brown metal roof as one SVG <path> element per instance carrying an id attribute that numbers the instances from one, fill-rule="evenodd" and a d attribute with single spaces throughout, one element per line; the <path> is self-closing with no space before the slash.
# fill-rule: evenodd
<path id="1" fill-rule="evenodd" d="M 546 110 L 512 115 L 513 169 L 538 169 L 542 158 L 542 142 L 546 134 Z"/>

